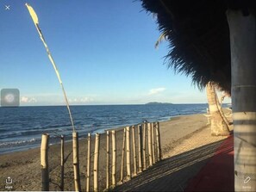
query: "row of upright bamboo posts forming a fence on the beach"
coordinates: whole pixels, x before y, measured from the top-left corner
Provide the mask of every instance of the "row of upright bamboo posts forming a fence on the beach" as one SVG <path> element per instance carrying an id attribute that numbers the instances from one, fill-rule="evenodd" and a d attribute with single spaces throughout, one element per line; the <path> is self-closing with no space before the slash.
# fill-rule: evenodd
<path id="1" fill-rule="evenodd" d="M 116 133 L 121 134 L 121 145 L 116 143 Z M 48 171 L 48 143 L 49 135 L 43 134 L 41 139 L 41 189 L 49 190 L 49 171 Z M 106 158 L 105 166 L 105 187 L 113 189 L 117 184 L 127 182 L 143 170 L 157 163 L 162 158 L 160 145 L 159 122 L 144 122 L 139 125 L 124 127 L 122 130 L 107 130 L 106 133 L 96 133 L 94 147 L 91 146 L 91 133 L 87 137 L 87 157 L 85 170 L 85 191 L 99 191 L 99 158 Z M 104 138 L 106 137 L 106 138 Z M 101 146 L 101 139 L 106 139 Z M 118 139 L 118 138 L 117 138 Z M 110 142 L 111 141 L 111 142 Z M 73 152 L 73 173 L 74 190 L 81 191 L 80 170 L 79 170 L 79 146 L 78 133 L 72 133 L 72 152 Z M 61 135 L 61 173 L 60 190 L 65 189 L 64 183 L 64 136 Z M 105 147 L 105 150 L 99 150 Z M 91 148 L 94 151 L 91 152 Z M 119 149 L 119 150 L 118 150 Z M 103 154 L 100 154 L 103 153 Z M 117 156 L 118 153 L 118 156 Z M 93 161 L 92 160 L 93 157 Z M 117 161 L 116 158 L 119 158 Z M 103 161 L 101 161 L 103 162 Z M 92 164 L 93 163 L 93 164 Z M 91 174 L 91 169 L 93 173 Z M 103 173 L 101 173 L 103 174 Z M 92 175 L 92 176 L 91 176 Z M 103 181 L 101 181 L 102 183 Z M 111 183 L 110 183 L 111 182 Z M 93 187 L 91 184 L 93 183 Z"/>

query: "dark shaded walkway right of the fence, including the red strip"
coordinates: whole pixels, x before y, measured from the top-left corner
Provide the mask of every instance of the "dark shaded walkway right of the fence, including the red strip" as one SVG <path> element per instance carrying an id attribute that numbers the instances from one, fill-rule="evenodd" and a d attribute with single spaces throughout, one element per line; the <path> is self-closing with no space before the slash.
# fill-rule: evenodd
<path id="1" fill-rule="evenodd" d="M 233 137 L 153 165 L 115 191 L 234 190 Z"/>

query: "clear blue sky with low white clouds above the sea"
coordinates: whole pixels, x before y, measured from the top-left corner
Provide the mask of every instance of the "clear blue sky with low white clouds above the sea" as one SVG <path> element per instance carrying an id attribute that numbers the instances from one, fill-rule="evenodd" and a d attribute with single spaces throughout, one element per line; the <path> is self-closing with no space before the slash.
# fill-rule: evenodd
<path id="1" fill-rule="evenodd" d="M 63 105 L 64 96 L 29 3 L 72 105 L 206 103 L 190 77 L 164 64 L 153 15 L 133 0 L 1 0 L 0 90 L 20 90 L 21 105 Z M 227 102 L 228 100 L 226 100 Z"/>

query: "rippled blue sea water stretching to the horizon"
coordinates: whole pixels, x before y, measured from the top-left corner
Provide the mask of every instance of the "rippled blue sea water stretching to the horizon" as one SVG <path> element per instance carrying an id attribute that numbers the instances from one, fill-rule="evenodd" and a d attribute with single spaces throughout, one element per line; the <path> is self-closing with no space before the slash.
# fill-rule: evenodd
<path id="1" fill-rule="evenodd" d="M 79 137 L 141 121 L 166 121 L 172 116 L 205 113 L 207 104 L 71 106 Z M 72 127 L 66 106 L 0 108 L 0 154 L 40 146 L 41 134 L 71 139 Z"/>

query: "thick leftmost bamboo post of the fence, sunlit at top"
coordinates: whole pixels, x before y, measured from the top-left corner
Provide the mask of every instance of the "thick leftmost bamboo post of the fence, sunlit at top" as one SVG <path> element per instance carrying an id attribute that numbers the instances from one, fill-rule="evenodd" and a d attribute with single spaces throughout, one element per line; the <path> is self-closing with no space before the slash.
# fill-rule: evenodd
<path id="1" fill-rule="evenodd" d="M 49 171 L 48 171 L 48 146 L 49 135 L 41 135 L 41 190 L 49 190 Z"/>

